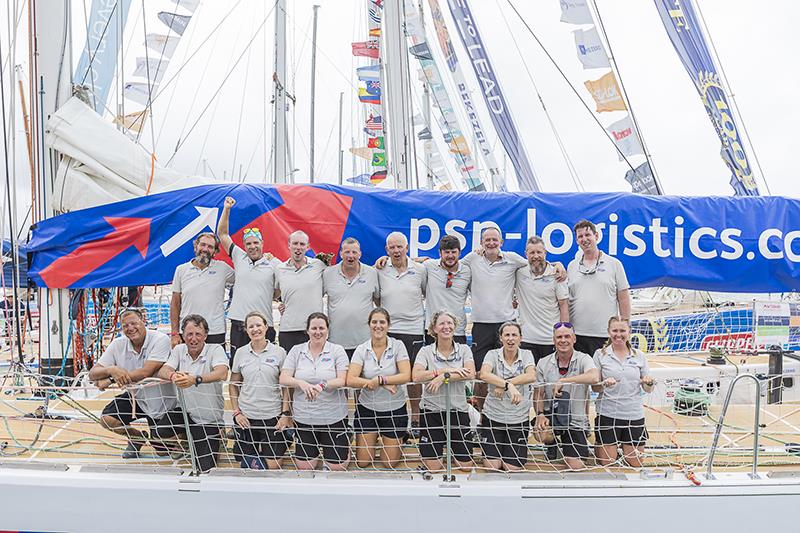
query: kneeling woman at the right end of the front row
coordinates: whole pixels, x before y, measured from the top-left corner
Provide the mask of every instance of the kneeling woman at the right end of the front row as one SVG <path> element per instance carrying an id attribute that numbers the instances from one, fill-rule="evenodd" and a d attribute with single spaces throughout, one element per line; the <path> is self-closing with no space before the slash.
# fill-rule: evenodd
<path id="1" fill-rule="evenodd" d="M 653 390 L 653 377 L 644 354 L 630 342 L 631 323 L 627 318 L 611 317 L 606 345 L 594 353 L 600 370 L 600 383 L 592 385 L 599 392 L 595 410 L 595 456 L 601 465 L 617 460 L 617 447 L 628 465 L 642 466 L 642 452 L 647 442 L 641 391 Z"/>

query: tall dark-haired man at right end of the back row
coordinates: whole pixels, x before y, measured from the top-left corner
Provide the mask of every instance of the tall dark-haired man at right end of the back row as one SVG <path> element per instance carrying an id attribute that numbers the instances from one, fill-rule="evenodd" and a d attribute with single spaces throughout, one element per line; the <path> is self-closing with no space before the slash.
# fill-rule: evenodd
<path id="1" fill-rule="evenodd" d="M 575 224 L 578 255 L 567 267 L 569 316 L 575 325 L 575 349 L 593 355 L 603 347 L 612 316 L 631 317 L 625 269 L 616 257 L 597 248 L 597 228 L 588 220 Z"/>

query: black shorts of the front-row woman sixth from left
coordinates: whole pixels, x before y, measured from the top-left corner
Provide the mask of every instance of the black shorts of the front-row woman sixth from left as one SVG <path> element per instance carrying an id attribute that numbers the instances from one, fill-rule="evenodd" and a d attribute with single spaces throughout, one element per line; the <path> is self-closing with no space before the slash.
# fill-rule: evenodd
<path id="1" fill-rule="evenodd" d="M 423 459 L 440 459 L 447 445 L 444 411 L 422 411 L 419 420 L 419 454 Z M 450 450 L 457 461 L 472 460 L 472 444 L 467 444 L 469 414 L 450 411 Z"/>

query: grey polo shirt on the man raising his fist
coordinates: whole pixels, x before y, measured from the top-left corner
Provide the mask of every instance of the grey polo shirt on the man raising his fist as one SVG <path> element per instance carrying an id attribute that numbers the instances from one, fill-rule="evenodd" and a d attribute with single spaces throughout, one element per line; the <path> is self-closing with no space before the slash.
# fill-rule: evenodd
<path id="1" fill-rule="evenodd" d="M 233 268 L 236 271 L 236 282 L 233 284 L 228 318 L 244 321 L 247 313 L 260 311 L 267 317 L 267 324 L 272 326 L 275 270 L 266 256 L 254 263 L 244 250 L 236 245 L 233 245 L 232 248 L 231 259 L 233 259 Z"/>

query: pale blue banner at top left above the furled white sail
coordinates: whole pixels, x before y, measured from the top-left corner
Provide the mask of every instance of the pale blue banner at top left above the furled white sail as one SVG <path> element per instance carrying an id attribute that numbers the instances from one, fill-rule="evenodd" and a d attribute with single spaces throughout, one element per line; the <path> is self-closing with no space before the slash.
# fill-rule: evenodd
<path id="1" fill-rule="evenodd" d="M 118 30 L 125 28 L 131 0 L 94 0 L 89 15 L 86 46 L 73 78 L 91 90 L 92 108 L 103 114 L 117 68 Z M 119 17 L 122 17 L 121 23 Z"/>

